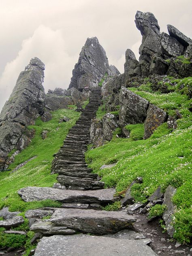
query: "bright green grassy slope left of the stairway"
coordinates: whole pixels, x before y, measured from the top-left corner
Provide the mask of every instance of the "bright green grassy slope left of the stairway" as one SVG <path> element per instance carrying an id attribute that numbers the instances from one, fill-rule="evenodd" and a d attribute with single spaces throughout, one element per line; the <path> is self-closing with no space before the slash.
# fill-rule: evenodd
<path id="1" fill-rule="evenodd" d="M 86 104 L 87 102 L 85 102 Z M 17 194 L 20 188 L 27 186 L 51 187 L 56 181 L 56 174 L 51 175 L 51 162 L 53 154 L 58 152 L 63 144 L 63 140 L 68 134 L 68 130 L 75 124 L 80 113 L 75 111 L 75 106 L 68 106 L 68 109 L 60 109 L 52 112 L 53 118 L 49 122 L 42 122 L 40 118 L 36 120 L 34 126 L 29 126 L 29 129 L 35 130 L 35 136 L 30 145 L 21 151 L 16 157 L 9 169 L 13 170 L 17 165 L 24 161 L 37 156 L 35 159 L 28 162 L 25 166 L 11 173 L 0 173 L 0 209 L 4 206 L 9 207 L 9 211 L 21 211 L 20 215 L 24 218 L 24 223 L 13 230 L 27 231 L 25 235 L 5 234 L 4 229 L 0 228 L 0 248 L 15 247 L 19 248 L 25 245 L 26 255 L 35 245 L 30 244 L 34 233 L 29 230 L 28 220 L 25 218 L 25 211 L 29 209 L 37 209 L 40 207 L 60 207 L 60 202 L 52 200 L 24 202 Z M 60 122 L 63 116 L 70 118 L 68 122 Z M 43 130 L 47 130 L 47 138 L 42 139 Z M 13 154 L 14 151 L 11 153 Z"/>

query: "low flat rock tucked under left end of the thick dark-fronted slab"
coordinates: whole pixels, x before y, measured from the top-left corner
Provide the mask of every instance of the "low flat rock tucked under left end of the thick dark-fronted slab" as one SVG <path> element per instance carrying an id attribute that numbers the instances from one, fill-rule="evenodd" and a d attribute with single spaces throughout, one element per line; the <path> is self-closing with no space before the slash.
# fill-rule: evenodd
<path id="1" fill-rule="evenodd" d="M 67 228 L 66 226 L 55 225 L 49 220 L 35 222 L 30 227 L 30 230 L 45 235 L 73 235 L 76 233 L 73 229 Z"/>

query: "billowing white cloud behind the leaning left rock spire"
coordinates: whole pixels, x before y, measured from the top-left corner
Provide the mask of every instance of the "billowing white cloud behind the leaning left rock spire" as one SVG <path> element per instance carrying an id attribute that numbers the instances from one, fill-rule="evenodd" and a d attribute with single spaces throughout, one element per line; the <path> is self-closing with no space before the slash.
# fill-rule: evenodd
<path id="1" fill-rule="evenodd" d="M 17 57 L 4 68 L 0 77 L 0 109 L 9 98 L 19 73 L 35 56 L 45 63 L 45 90 L 68 87 L 78 56 L 68 55 L 61 30 L 41 25 L 30 38 L 23 40 Z"/>

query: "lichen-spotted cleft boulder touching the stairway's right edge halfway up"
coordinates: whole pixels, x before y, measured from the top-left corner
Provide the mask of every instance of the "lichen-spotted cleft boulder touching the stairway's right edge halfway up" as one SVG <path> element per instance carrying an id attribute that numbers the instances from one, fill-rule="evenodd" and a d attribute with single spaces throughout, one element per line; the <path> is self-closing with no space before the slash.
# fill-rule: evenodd
<path id="1" fill-rule="evenodd" d="M 111 113 L 105 114 L 102 120 L 94 119 L 90 128 L 90 143 L 100 147 L 105 141 L 111 141 L 117 127 L 117 117 Z"/>

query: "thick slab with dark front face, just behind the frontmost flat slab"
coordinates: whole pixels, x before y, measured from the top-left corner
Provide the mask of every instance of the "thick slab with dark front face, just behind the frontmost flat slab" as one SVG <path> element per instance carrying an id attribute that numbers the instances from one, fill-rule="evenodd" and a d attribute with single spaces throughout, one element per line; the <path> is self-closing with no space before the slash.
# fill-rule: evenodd
<path id="1" fill-rule="evenodd" d="M 54 211 L 50 221 L 57 226 L 67 226 L 86 233 L 109 234 L 124 228 L 133 229 L 132 223 L 136 219 L 124 211 L 58 208 Z"/>

